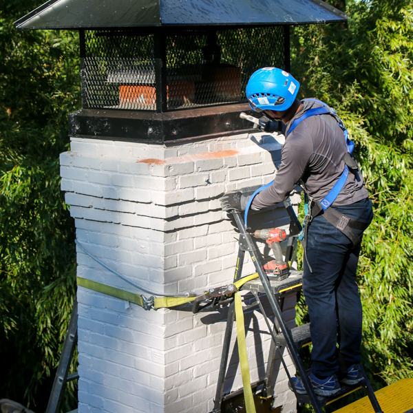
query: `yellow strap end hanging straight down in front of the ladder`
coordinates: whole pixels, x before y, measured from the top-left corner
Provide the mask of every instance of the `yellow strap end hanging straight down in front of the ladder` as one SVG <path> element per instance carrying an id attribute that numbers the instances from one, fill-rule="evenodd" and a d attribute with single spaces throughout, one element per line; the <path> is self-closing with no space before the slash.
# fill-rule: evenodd
<path id="1" fill-rule="evenodd" d="M 242 386 L 244 387 L 246 413 L 255 413 L 255 403 L 253 398 L 253 390 L 251 390 L 248 357 L 246 355 L 244 310 L 242 310 L 242 300 L 239 291 L 235 293 L 235 317 L 237 320 L 238 354 L 240 356 L 240 367 Z"/>

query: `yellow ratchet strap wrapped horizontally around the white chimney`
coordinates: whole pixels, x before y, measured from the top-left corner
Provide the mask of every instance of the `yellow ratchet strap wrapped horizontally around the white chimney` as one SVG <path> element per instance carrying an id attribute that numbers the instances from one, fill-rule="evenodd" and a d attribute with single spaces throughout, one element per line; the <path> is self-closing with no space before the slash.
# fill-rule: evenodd
<path id="1" fill-rule="evenodd" d="M 247 277 L 239 279 L 234 283 L 234 285 L 238 290 L 246 282 L 251 281 L 251 279 L 255 279 L 257 277 L 258 274 L 248 275 Z M 98 293 L 110 295 L 111 297 L 125 299 L 126 301 L 130 301 L 131 303 L 138 304 L 138 306 L 147 308 L 147 302 L 145 301 L 145 298 L 140 294 L 131 293 L 130 291 L 121 290 L 120 288 L 107 286 L 105 284 L 101 284 L 100 282 L 92 281 L 90 279 L 82 277 L 77 277 L 76 279 L 78 286 L 87 288 L 89 290 L 94 290 Z M 181 306 L 182 304 L 190 303 L 195 298 L 196 297 L 155 297 L 153 299 L 153 308 L 158 309 Z"/>

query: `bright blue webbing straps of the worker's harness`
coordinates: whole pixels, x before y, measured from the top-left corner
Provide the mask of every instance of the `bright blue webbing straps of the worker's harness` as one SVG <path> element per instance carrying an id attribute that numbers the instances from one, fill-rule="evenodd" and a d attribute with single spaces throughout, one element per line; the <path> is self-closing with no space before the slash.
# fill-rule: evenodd
<path id="1" fill-rule="evenodd" d="M 300 116 L 299 118 L 295 119 L 293 124 L 290 126 L 290 129 L 288 129 L 287 137 L 297 127 L 297 125 L 299 125 L 299 123 L 302 122 L 304 119 L 309 118 L 310 116 L 330 114 L 334 116 L 334 118 L 337 120 L 337 123 L 343 130 L 344 138 L 346 139 L 347 151 L 348 153 L 351 154 L 354 149 L 354 142 L 352 142 L 348 138 L 348 130 L 344 126 L 343 121 L 339 118 L 339 116 L 337 116 L 337 113 L 335 112 L 335 110 L 332 109 L 332 107 L 328 107 L 326 103 L 321 102 L 321 100 L 318 100 L 318 99 L 309 98 L 309 99 L 304 99 L 304 100 L 310 100 L 313 102 L 320 103 L 321 105 L 323 105 L 323 107 L 315 107 L 314 109 L 309 109 L 303 116 Z M 349 173 L 349 170 L 348 170 L 348 166 L 346 165 L 343 173 L 341 173 L 339 180 L 337 180 L 337 182 L 334 184 L 334 187 L 332 187 L 331 191 L 324 197 L 323 200 L 321 200 L 320 204 L 321 204 L 323 211 L 326 211 L 326 209 L 330 207 L 332 202 L 335 201 L 335 199 L 341 192 L 341 189 L 343 189 L 344 185 L 346 184 L 348 173 Z M 246 204 L 246 209 L 244 213 L 245 226 L 246 226 L 246 222 L 248 218 L 248 210 L 250 209 L 251 204 L 253 203 L 255 195 L 257 195 L 257 193 L 260 193 L 261 191 L 264 191 L 264 189 L 268 188 L 271 184 L 273 184 L 273 182 L 274 181 L 270 182 L 269 184 L 264 185 L 264 187 L 257 189 L 257 191 L 255 191 L 253 195 L 251 195 L 251 198 L 248 200 L 248 203 Z"/>

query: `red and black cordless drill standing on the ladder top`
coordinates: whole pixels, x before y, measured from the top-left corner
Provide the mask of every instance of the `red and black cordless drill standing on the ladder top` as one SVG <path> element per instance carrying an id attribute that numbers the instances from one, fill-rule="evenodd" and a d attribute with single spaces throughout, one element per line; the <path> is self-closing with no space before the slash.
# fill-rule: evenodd
<path id="1" fill-rule="evenodd" d="M 288 277 L 288 264 L 282 257 L 282 249 L 280 242 L 286 240 L 287 234 L 284 229 L 258 229 L 253 233 L 255 238 L 266 240 L 266 243 L 271 246 L 273 250 L 275 260 L 267 262 L 264 265 L 264 271 L 267 275 L 281 281 Z"/>

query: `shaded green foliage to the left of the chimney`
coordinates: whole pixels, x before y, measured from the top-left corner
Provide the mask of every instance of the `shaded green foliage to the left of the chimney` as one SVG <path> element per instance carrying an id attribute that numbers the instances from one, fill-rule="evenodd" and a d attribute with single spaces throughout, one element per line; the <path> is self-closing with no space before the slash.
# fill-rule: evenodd
<path id="1" fill-rule="evenodd" d="M 1 3 L 0 398 L 44 411 L 75 290 L 59 153 L 69 142 L 67 114 L 80 100 L 78 39 L 17 32 L 12 22 L 38 4 Z"/>

